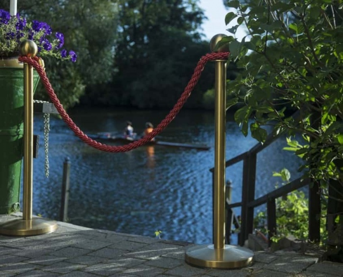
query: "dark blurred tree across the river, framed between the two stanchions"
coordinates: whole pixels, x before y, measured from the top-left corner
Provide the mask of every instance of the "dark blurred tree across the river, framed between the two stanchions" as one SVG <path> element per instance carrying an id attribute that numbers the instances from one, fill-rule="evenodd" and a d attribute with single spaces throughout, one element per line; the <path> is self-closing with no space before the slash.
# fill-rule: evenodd
<path id="1" fill-rule="evenodd" d="M 209 51 L 196 31 L 204 18 L 197 1 L 119 1 L 118 72 L 103 102 L 139 108 L 170 108 L 176 102 L 198 59 Z M 201 104 L 212 86 L 213 77 L 207 78 L 187 105 Z"/>

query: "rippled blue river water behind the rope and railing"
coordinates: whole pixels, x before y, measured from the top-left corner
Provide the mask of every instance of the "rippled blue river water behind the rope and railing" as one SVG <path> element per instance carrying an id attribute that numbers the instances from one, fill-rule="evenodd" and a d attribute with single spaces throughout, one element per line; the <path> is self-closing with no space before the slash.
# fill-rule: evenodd
<path id="1" fill-rule="evenodd" d="M 145 122 L 155 126 L 168 111 L 74 109 L 69 112 L 86 134 L 111 131 L 122 134 L 126 120 L 142 133 Z M 67 124 L 50 118 L 49 178 L 44 172 L 43 117 L 34 116 L 40 135 L 39 154 L 33 163 L 33 213 L 59 219 L 63 162 L 71 162 L 68 221 L 90 228 L 161 238 L 212 243 L 212 174 L 214 166 L 214 112 L 181 111 L 159 135 L 164 141 L 200 143 L 209 151 L 142 146 L 126 153 L 105 153 L 74 136 Z M 226 159 L 257 143 L 244 137 L 227 116 Z M 256 196 L 274 189 L 281 180 L 273 171 L 288 168 L 299 176 L 300 160 L 283 151 L 285 139 L 272 143 L 257 157 Z M 243 162 L 226 169 L 233 185 L 233 202 L 241 201 Z M 240 214 L 240 209 L 235 210 Z"/>

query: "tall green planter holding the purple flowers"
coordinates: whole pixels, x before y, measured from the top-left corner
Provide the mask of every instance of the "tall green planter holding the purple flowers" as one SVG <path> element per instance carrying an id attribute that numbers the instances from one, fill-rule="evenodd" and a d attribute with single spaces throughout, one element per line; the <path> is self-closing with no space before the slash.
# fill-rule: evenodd
<path id="1" fill-rule="evenodd" d="M 34 71 L 33 87 L 39 76 Z M 17 59 L 0 60 L 0 214 L 20 208 L 24 136 L 24 70 Z"/>

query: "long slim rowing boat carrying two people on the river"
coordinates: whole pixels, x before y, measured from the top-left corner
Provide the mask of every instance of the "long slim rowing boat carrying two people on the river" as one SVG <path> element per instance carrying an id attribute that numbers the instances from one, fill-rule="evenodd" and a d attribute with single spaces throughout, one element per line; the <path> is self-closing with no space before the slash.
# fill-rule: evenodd
<path id="1" fill-rule="evenodd" d="M 118 142 L 118 143 L 123 143 L 123 144 L 127 144 L 127 143 L 138 140 L 138 139 L 133 139 L 133 138 L 111 136 L 110 133 L 98 133 L 95 135 L 88 135 L 88 137 L 92 139 L 101 139 L 101 140 Z M 199 150 L 209 150 L 211 148 L 207 145 L 202 145 L 202 144 L 177 143 L 177 142 L 162 141 L 162 140 L 157 140 L 157 139 L 153 141 L 149 141 L 145 145 L 162 145 L 162 146 L 170 146 L 170 147 L 193 148 L 193 149 L 199 149 Z"/>

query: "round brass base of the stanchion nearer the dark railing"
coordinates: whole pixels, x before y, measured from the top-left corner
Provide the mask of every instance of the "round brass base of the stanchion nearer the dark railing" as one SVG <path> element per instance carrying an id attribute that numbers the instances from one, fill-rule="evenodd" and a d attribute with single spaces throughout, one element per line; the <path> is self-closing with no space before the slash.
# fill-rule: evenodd
<path id="1" fill-rule="evenodd" d="M 186 263 L 209 268 L 242 268 L 253 263 L 254 253 L 244 247 L 225 245 L 215 249 L 214 245 L 193 246 L 186 251 Z"/>

